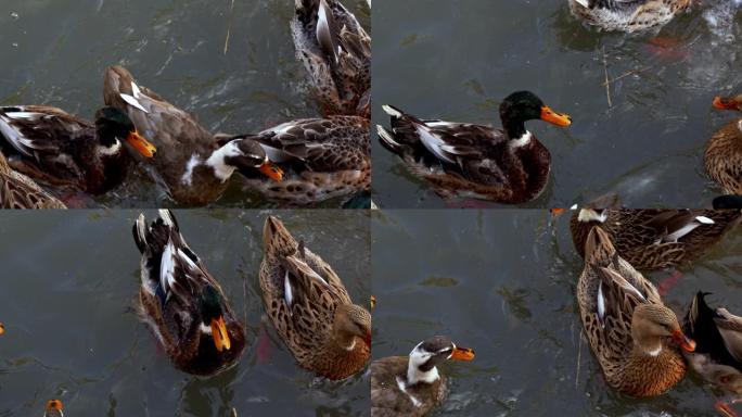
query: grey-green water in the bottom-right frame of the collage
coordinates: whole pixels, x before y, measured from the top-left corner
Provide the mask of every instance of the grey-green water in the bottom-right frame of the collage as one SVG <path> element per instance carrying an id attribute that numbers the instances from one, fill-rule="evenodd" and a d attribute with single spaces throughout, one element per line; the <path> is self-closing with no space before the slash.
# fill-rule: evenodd
<path id="1" fill-rule="evenodd" d="M 567 217 L 552 225 L 536 210 L 374 214 L 373 356 L 408 354 L 434 334 L 474 349 L 473 362 L 442 368 L 451 393 L 435 416 L 715 416 L 695 376 L 651 400 L 605 386 L 587 340 L 579 343 L 574 291 L 583 263 Z M 680 268 L 667 305 L 685 315 L 703 289 L 742 314 L 741 249 L 738 230 Z"/>

